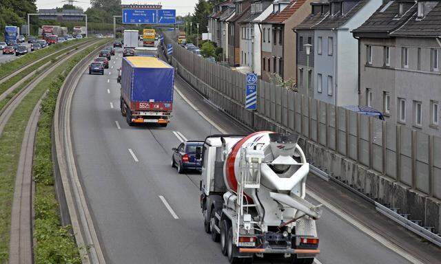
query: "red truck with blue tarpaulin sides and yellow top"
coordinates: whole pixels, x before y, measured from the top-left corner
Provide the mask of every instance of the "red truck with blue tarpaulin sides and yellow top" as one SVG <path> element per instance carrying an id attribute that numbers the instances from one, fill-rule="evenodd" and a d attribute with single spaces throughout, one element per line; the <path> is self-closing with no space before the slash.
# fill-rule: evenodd
<path id="1" fill-rule="evenodd" d="M 174 68 L 158 58 L 123 58 L 121 114 L 127 124 L 167 126 L 172 118 Z"/>

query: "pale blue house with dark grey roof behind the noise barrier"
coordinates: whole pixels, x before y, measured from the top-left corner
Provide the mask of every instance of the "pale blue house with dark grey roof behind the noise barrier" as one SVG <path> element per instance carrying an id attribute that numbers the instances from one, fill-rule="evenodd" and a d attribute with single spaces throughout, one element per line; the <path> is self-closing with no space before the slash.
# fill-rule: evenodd
<path id="1" fill-rule="evenodd" d="M 336 104 L 358 104 L 358 28 L 382 4 L 381 0 L 318 4 L 296 30 L 314 30 L 314 98 Z"/>

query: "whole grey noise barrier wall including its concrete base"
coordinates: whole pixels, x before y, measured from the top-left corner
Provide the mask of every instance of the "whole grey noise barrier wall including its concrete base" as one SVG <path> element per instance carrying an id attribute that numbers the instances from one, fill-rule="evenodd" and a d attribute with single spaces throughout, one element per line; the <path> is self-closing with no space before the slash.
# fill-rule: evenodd
<path id="1" fill-rule="evenodd" d="M 245 74 L 173 44 L 172 65 L 207 100 L 256 130 L 298 133 L 305 154 L 331 177 L 441 233 L 441 138 L 360 115 L 258 80 L 258 108 L 245 109 Z M 436 235 L 435 235 L 436 236 Z"/>

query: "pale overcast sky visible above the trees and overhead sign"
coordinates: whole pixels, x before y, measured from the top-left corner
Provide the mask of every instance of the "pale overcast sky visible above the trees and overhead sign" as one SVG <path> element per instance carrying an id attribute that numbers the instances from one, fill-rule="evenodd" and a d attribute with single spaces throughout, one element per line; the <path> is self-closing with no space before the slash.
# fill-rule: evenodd
<path id="1" fill-rule="evenodd" d="M 74 3 L 74 5 L 81 6 L 84 10 L 88 9 L 90 7 L 90 1 L 88 0 L 78 0 L 81 3 Z M 163 0 L 160 1 L 163 5 L 164 9 L 176 9 L 176 14 L 178 15 L 185 15 L 188 13 L 193 13 L 194 11 L 194 5 L 196 5 L 197 0 Z M 150 3 L 150 4 L 156 4 L 158 1 L 130 1 L 130 0 L 122 0 L 123 4 L 127 3 Z M 49 8 L 56 8 L 56 7 L 62 7 L 63 0 L 37 0 L 37 8 L 43 8 L 43 9 L 49 9 Z"/>

